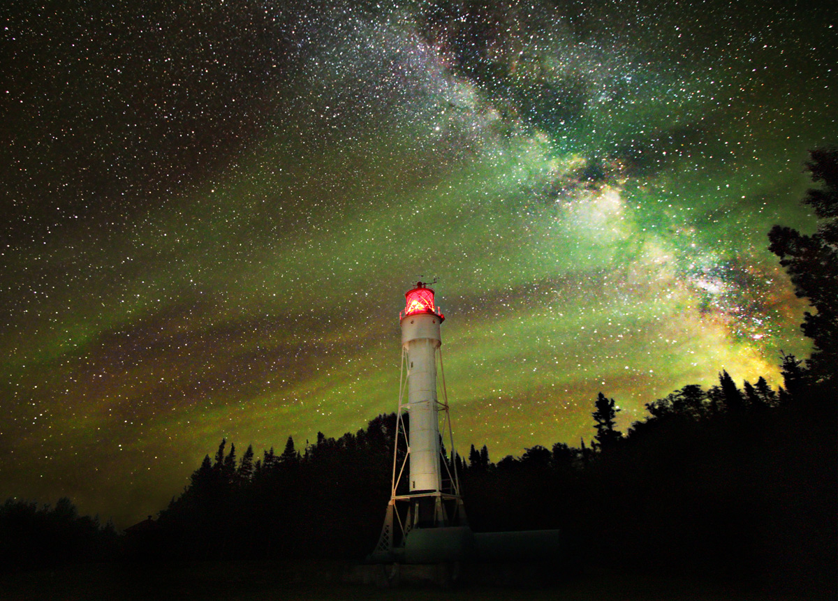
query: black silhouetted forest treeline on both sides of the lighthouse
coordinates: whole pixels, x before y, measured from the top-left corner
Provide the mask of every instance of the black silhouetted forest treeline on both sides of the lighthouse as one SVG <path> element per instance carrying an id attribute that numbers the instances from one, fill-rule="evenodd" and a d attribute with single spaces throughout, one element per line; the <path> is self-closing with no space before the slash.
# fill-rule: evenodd
<path id="1" fill-rule="evenodd" d="M 627 432 L 616 428 L 617 401 L 600 393 L 596 435 L 579 447 L 535 445 L 496 462 L 486 446 L 447 455 L 475 531 L 559 528 L 565 566 L 835 587 L 838 148 L 812 152 L 807 169 L 824 184 L 804 199 L 819 227 L 810 235 L 775 227 L 769 249 L 815 310 L 802 326 L 810 358 L 781 354 L 778 388 L 764 378 L 738 386 L 722 370 L 710 388 L 690 384 L 650 401 Z M 77 557 L 106 547 L 127 560 L 363 559 L 390 497 L 395 431 L 387 414 L 302 449 L 289 437 L 281 453 L 222 440 L 156 521 L 119 540 L 69 501 L 54 510 L 7 501 L 0 565 L 18 562 L 21 545 L 38 546 L 37 537 L 19 542 L 28 524 L 64 528 L 60 540 L 72 542 L 60 543 L 64 552 L 89 549 Z"/>

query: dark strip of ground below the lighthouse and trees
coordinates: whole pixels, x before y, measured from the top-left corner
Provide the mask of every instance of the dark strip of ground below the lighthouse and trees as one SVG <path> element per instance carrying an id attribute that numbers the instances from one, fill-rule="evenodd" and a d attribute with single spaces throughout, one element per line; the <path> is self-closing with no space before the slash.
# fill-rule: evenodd
<path id="1" fill-rule="evenodd" d="M 481 571 L 487 585 L 481 582 Z M 513 601 L 792 601 L 831 598 L 830 593 L 805 587 L 778 587 L 760 583 L 696 582 L 680 578 L 650 577 L 644 573 L 588 570 L 559 582 L 536 582 L 532 573 L 507 573 L 502 567 L 483 566 L 468 573 L 468 582 L 440 588 L 432 584 L 378 588 L 344 582 L 351 569 L 338 562 L 199 562 L 176 567 L 149 565 L 83 565 L 28 573 L 0 574 L 0 599 L 237 599 L 270 601 L 398 599 L 439 601 L 480 599 Z M 549 579 L 549 578 L 548 578 Z M 499 582 L 501 581 L 501 582 Z"/>

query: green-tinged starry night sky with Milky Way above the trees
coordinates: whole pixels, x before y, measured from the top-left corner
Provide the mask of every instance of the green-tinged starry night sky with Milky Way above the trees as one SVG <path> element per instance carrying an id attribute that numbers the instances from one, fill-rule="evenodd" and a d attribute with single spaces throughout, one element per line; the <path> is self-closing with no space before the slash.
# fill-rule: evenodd
<path id="1" fill-rule="evenodd" d="M 836 140 L 816 3 L 0 10 L 0 499 L 118 527 L 222 437 L 396 410 L 432 280 L 455 441 L 590 440 L 806 356 L 766 234 Z"/>

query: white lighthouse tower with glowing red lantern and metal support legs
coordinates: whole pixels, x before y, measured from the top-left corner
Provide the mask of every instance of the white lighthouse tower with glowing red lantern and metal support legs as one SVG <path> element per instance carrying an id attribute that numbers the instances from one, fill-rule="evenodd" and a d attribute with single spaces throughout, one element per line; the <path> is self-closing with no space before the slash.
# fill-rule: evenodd
<path id="1" fill-rule="evenodd" d="M 405 299 L 400 314 L 401 379 L 391 499 L 371 558 L 406 562 L 458 559 L 471 547 L 473 535 L 456 467 L 442 455 L 441 419 L 454 456 L 442 370 L 440 326 L 445 317 L 434 302 L 433 289 L 423 282 L 416 282 Z M 437 373 L 442 401 L 437 394 Z"/>

